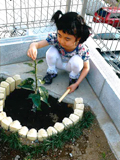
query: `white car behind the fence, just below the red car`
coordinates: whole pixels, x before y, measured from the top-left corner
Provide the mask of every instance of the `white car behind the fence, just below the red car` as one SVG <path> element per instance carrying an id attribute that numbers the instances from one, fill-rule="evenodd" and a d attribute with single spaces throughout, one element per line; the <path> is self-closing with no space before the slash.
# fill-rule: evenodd
<path id="1" fill-rule="evenodd" d="M 95 48 L 100 52 L 120 51 L 120 33 L 118 30 L 105 23 L 91 23 L 91 37 Z"/>

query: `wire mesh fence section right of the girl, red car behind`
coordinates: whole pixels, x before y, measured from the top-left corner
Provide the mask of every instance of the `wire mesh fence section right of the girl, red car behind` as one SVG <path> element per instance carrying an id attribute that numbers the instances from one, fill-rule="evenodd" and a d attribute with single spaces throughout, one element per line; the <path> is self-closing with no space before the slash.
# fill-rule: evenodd
<path id="1" fill-rule="evenodd" d="M 120 78 L 120 7 L 108 6 L 96 10 L 88 23 L 95 48 Z"/>

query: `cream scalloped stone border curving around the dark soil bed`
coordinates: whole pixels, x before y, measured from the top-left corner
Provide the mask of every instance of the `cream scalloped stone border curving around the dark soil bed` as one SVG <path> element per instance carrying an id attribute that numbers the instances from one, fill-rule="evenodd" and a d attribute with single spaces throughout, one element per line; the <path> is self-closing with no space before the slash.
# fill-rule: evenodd
<path id="1" fill-rule="evenodd" d="M 0 125 L 3 129 L 11 132 L 18 132 L 20 137 L 27 138 L 30 141 L 43 141 L 44 139 L 62 132 L 64 129 L 76 124 L 82 119 L 84 112 L 83 99 L 75 98 L 74 100 L 74 112 L 70 114 L 69 118 L 65 117 L 62 123 L 56 122 L 54 126 L 49 126 L 46 130 L 41 128 L 38 130 L 32 128 L 28 129 L 26 126 L 22 126 L 18 120 L 13 121 L 11 117 L 7 117 L 4 112 L 5 99 L 11 92 L 18 89 L 18 85 L 21 83 L 20 75 L 14 75 L 8 77 L 6 81 L 0 83 Z"/>

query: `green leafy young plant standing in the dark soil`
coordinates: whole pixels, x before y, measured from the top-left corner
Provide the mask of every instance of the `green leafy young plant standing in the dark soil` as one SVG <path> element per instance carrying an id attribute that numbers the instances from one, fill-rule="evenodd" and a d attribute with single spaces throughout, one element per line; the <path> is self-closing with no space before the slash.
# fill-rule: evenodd
<path id="1" fill-rule="evenodd" d="M 48 91 L 46 90 L 45 87 L 38 86 L 38 80 L 40 84 L 44 84 L 44 81 L 42 81 L 37 76 L 37 64 L 40 64 L 42 62 L 43 60 L 39 60 L 38 62 L 35 60 L 34 63 L 25 63 L 33 68 L 33 70 L 26 73 L 34 74 L 34 79 L 27 78 L 24 81 L 22 81 L 21 84 L 19 85 L 19 87 L 21 88 L 34 91 L 34 93 L 31 93 L 28 96 L 28 98 L 32 99 L 33 102 L 32 111 L 34 112 L 36 112 L 36 110 L 41 110 L 41 101 L 45 102 L 50 107 L 48 103 L 48 97 L 49 97 Z"/>

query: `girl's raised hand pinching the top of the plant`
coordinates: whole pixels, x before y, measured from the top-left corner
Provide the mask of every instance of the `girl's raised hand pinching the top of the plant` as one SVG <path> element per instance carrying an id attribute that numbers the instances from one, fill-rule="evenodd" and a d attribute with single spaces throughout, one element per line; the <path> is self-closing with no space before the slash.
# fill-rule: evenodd
<path id="1" fill-rule="evenodd" d="M 27 51 L 27 55 L 33 60 L 37 58 L 37 48 L 34 44 L 30 45 L 30 48 Z"/>

